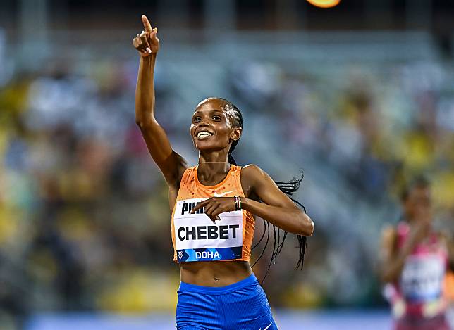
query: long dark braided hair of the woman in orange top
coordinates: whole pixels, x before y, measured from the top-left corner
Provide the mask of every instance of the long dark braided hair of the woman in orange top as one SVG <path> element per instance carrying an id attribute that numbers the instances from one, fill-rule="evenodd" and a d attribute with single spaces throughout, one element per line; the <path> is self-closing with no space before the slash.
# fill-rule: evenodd
<path id="1" fill-rule="evenodd" d="M 234 113 L 233 118 L 232 118 L 233 127 L 243 128 L 243 115 L 241 114 L 240 109 L 238 109 L 235 106 L 235 104 L 231 103 L 231 101 L 228 101 L 228 100 L 222 99 L 222 98 L 218 98 L 218 99 L 220 99 L 220 100 L 222 100 L 222 101 L 224 101 L 226 103 L 226 106 L 228 107 L 228 110 L 233 110 L 233 113 Z M 237 146 L 238 141 L 239 140 L 233 141 L 232 144 L 231 144 L 230 149 L 228 150 L 228 156 L 227 156 L 228 163 L 231 163 L 232 165 L 237 165 L 236 162 L 235 162 L 235 159 L 233 158 L 232 153 L 235 150 L 235 147 Z M 295 191 L 300 189 L 300 184 L 301 184 L 303 178 L 304 178 L 304 174 L 301 172 L 300 179 L 292 179 L 289 182 L 278 182 L 278 181 L 275 181 L 275 183 L 276 183 L 278 188 L 283 193 L 285 193 L 295 204 L 300 206 L 300 208 L 302 208 L 302 210 L 304 210 L 306 212 L 305 206 L 302 205 L 300 202 L 298 202 L 298 201 L 296 201 L 295 199 L 292 198 L 293 193 L 295 193 Z M 254 246 L 252 246 L 251 250 L 254 250 L 254 248 L 257 248 L 257 246 L 259 246 L 259 244 L 263 241 L 265 234 L 266 234 L 266 242 L 265 242 L 265 246 L 264 246 L 264 248 L 262 250 L 262 253 L 260 253 L 259 258 L 257 258 L 257 260 L 255 260 L 255 262 L 252 265 L 252 267 L 254 267 L 254 265 L 257 264 L 257 262 L 262 258 L 262 256 L 264 255 L 264 252 L 266 250 L 266 246 L 268 246 L 269 236 L 270 236 L 270 233 L 271 233 L 270 228 L 269 228 L 270 223 L 265 221 L 265 220 L 263 220 L 263 223 L 264 223 L 263 234 L 260 237 L 259 241 Z M 266 275 L 268 274 L 271 265 L 274 264 L 274 262 L 276 260 L 276 257 L 278 256 L 279 253 L 281 253 L 281 250 L 283 248 L 283 244 L 286 241 L 286 237 L 287 237 L 287 234 L 288 234 L 287 231 L 279 229 L 274 224 L 271 224 L 271 225 L 272 225 L 273 236 L 274 236 L 273 252 L 271 253 L 271 260 L 269 261 L 268 268 L 266 269 L 266 274 L 264 276 L 264 279 L 265 279 Z M 281 239 L 281 231 L 283 231 L 282 239 Z M 298 268 L 302 269 L 302 267 L 304 265 L 304 262 L 305 262 L 306 239 L 307 239 L 306 236 L 297 235 L 298 245 L 299 245 L 299 249 L 300 249 L 299 258 L 298 258 L 298 262 L 297 262 L 297 265 L 296 265 L 297 269 Z"/>

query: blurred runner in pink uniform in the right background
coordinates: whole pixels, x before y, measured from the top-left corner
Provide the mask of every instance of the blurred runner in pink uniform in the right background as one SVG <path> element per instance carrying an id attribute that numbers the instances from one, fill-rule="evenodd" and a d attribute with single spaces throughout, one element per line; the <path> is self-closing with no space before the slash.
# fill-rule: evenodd
<path id="1" fill-rule="evenodd" d="M 446 237 L 431 227 L 429 182 L 410 184 L 402 206 L 403 221 L 382 234 L 381 276 L 395 329 L 448 330 L 443 286 L 450 253 Z"/>

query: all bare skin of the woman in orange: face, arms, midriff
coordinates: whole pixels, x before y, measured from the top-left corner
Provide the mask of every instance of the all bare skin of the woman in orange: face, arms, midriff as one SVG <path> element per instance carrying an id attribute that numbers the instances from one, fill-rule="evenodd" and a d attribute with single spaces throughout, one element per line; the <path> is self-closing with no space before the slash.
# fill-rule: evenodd
<path id="1" fill-rule="evenodd" d="M 173 151 L 170 141 L 154 117 L 154 65 L 159 51 L 157 29 L 152 28 L 142 15 L 145 30 L 133 39 L 140 53 L 140 65 L 135 91 L 135 120 L 140 127 L 147 148 L 168 184 L 168 199 L 171 210 L 176 203 L 181 178 L 188 166 L 183 157 Z M 208 137 L 198 136 L 209 132 Z M 231 165 L 227 161 L 228 150 L 233 141 L 240 139 L 242 129 L 234 127 L 232 110 L 220 99 L 205 99 L 192 115 L 190 135 L 199 151 L 199 181 L 206 186 L 221 182 Z M 216 162 L 216 163 L 207 163 Z M 242 208 L 253 215 L 275 224 L 294 234 L 311 236 L 314 223 L 293 201 L 282 193 L 266 172 L 257 165 L 246 165 L 241 170 L 241 186 L 245 193 Z M 261 201 L 261 202 L 259 202 Z M 233 197 L 212 197 L 199 204 L 212 221 L 221 212 L 235 210 Z M 195 211 L 195 210 L 192 210 Z M 181 262 L 181 281 L 200 286 L 226 286 L 245 279 L 252 274 L 247 261 Z"/>

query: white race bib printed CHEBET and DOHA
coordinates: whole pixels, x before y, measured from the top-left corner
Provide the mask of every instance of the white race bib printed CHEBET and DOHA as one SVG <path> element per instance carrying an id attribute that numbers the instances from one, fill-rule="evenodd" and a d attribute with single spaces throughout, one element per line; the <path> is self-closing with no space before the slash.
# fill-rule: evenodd
<path id="1" fill-rule="evenodd" d="M 173 214 L 175 245 L 178 262 L 240 259 L 243 250 L 243 212 L 231 211 L 219 215 L 214 224 L 200 208 L 192 208 L 206 198 L 176 202 Z"/>

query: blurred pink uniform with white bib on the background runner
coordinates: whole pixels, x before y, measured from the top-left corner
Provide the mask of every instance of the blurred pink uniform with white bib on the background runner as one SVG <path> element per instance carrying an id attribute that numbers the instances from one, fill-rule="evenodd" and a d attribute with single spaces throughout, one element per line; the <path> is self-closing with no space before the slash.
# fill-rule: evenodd
<path id="1" fill-rule="evenodd" d="M 410 234 L 410 225 L 397 227 L 398 249 Z M 398 282 L 388 284 L 385 295 L 393 307 L 396 329 L 449 329 L 445 321 L 447 302 L 443 283 L 448 266 L 448 250 L 436 234 L 431 234 L 405 260 Z"/>

